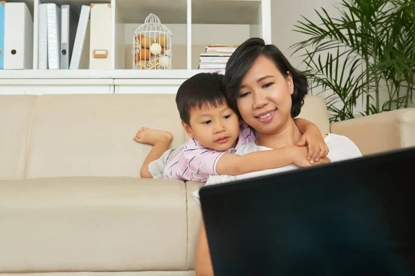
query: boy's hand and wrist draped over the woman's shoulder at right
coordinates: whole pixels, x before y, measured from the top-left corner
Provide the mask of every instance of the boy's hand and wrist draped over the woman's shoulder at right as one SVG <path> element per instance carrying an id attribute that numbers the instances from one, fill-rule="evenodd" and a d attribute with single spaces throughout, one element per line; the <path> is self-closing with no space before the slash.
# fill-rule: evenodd
<path id="1" fill-rule="evenodd" d="M 326 157 L 329 154 L 329 147 L 327 147 L 326 141 L 324 141 L 320 128 L 311 121 L 302 118 L 296 118 L 294 122 L 299 131 L 303 133 L 297 146 L 308 147 L 307 160 L 315 160 L 317 162 L 320 158 Z"/>

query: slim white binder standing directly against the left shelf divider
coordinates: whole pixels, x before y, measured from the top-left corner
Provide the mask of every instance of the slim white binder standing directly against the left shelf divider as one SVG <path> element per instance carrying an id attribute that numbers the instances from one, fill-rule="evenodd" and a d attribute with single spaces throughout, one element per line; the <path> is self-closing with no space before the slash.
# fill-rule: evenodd
<path id="1" fill-rule="evenodd" d="M 38 43 L 38 68 L 48 69 L 48 19 L 46 17 L 46 4 L 39 4 L 39 39 Z"/>

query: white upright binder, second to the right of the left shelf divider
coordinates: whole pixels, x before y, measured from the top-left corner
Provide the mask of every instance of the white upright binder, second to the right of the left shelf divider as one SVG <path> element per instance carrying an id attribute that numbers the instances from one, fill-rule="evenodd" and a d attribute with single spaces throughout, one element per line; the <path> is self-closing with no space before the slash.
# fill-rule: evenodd
<path id="1" fill-rule="evenodd" d="M 46 3 L 48 20 L 48 66 L 60 69 L 60 8 L 55 3 Z"/>

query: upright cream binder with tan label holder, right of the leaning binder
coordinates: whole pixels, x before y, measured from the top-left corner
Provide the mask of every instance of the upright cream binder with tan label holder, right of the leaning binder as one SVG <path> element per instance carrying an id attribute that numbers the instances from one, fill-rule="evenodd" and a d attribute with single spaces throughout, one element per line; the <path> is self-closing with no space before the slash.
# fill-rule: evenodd
<path id="1" fill-rule="evenodd" d="M 91 3 L 89 69 L 111 69 L 111 4 Z"/>

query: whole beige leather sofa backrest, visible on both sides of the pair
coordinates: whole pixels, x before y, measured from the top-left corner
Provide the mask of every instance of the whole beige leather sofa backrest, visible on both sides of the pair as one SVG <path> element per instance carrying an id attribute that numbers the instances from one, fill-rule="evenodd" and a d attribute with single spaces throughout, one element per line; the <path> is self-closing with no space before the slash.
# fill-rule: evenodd
<path id="1" fill-rule="evenodd" d="M 299 117 L 329 132 L 324 99 L 306 97 Z M 0 179 L 139 177 L 142 126 L 172 132 L 172 148 L 186 140 L 175 95 L 2 95 Z"/>

